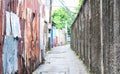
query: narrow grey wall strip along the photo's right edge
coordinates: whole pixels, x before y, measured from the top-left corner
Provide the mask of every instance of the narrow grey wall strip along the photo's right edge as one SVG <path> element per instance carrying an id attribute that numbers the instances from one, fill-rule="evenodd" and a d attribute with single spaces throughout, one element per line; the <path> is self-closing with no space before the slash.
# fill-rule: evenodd
<path id="1" fill-rule="evenodd" d="M 114 50 L 116 74 L 120 73 L 120 0 L 114 0 Z"/>

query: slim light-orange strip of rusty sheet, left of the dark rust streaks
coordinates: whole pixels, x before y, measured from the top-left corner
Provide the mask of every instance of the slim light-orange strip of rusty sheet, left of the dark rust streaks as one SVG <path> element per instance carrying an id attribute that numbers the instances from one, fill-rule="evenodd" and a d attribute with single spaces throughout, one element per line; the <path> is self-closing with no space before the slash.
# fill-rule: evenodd
<path id="1" fill-rule="evenodd" d="M 31 62 L 31 57 L 32 57 L 32 32 L 31 32 L 31 24 L 30 24 L 30 10 L 27 9 L 27 18 L 26 18 L 26 27 L 25 27 L 25 54 L 26 54 L 26 67 L 28 72 L 31 70 L 30 69 L 30 62 Z"/>

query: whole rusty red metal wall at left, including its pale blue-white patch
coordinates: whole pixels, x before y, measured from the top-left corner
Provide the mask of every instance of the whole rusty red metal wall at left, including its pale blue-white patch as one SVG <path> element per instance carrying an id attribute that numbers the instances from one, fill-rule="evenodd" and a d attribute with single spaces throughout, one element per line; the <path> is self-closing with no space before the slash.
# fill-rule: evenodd
<path id="1" fill-rule="evenodd" d="M 31 74 L 41 63 L 40 16 L 43 16 L 45 12 L 40 13 L 40 4 L 39 0 L 0 0 L 0 74 L 6 72 Z M 10 19 L 8 19 L 7 13 L 10 15 Z M 14 19 L 11 19 L 13 16 L 18 18 L 16 25 L 20 28 L 18 36 L 14 36 L 15 31 L 12 24 Z M 10 28 L 7 21 L 9 21 Z M 10 40 L 13 41 L 10 42 L 13 45 L 9 44 Z M 16 55 L 10 57 L 14 60 L 17 57 L 17 64 L 15 63 L 11 67 L 16 66 L 17 71 L 12 71 L 12 69 L 10 71 L 6 62 L 8 60 L 6 58 L 9 56 L 5 53 L 14 48 L 17 52 L 11 53 Z M 9 53 L 9 55 L 11 54 Z"/>

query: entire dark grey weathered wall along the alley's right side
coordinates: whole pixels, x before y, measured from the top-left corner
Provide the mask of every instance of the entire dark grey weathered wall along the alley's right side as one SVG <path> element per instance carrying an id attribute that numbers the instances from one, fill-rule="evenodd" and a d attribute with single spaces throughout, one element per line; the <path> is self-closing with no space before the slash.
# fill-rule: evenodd
<path id="1" fill-rule="evenodd" d="M 119 74 L 120 1 L 84 0 L 71 27 L 71 47 L 94 74 Z"/>

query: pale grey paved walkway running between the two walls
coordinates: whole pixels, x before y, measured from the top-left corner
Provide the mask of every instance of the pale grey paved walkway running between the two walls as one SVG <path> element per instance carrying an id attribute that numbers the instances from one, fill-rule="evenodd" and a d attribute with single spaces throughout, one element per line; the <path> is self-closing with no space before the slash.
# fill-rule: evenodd
<path id="1" fill-rule="evenodd" d="M 46 62 L 33 74 L 89 74 L 69 45 L 58 46 L 46 54 Z"/>

